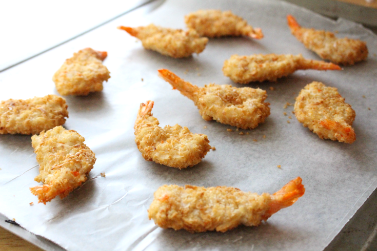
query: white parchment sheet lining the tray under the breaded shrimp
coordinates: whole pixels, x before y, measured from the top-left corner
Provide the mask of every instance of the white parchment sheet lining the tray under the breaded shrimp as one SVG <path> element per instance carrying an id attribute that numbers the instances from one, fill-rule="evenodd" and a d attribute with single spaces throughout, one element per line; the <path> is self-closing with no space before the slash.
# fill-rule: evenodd
<path id="1" fill-rule="evenodd" d="M 140 41 L 116 29 L 152 22 L 185 28 L 185 14 L 208 8 L 232 10 L 261 27 L 265 38 L 210 39 L 200 55 L 173 59 L 143 49 Z M 157 69 L 166 68 L 198 86 L 215 82 L 244 87 L 221 71 L 232 54 L 302 53 L 319 59 L 290 34 L 287 14 L 304 27 L 366 41 L 368 59 L 343 71 L 298 71 L 277 82 L 246 85 L 267 90 L 271 115 L 254 130 L 240 130 L 244 135 L 203 120 L 191 100 L 157 77 Z M 57 94 L 53 73 L 73 52 L 86 47 L 107 51 L 104 64 L 111 72 L 103 92 L 66 97 L 65 128 L 83 135 L 97 157 L 89 180 L 63 200 L 37 204 L 29 191 L 38 184 L 33 180 L 38 164 L 30 136 L 0 135 L 0 212 L 34 234 L 68 250 L 322 250 L 377 185 L 377 37 L 360 25 L 334 22 L 272 0 L 167 1 L 150 13 L 133 12 L 1 73 L 0 100 Z M 356 111 L 353 144 L 320 139 L 296 120 L 292 106 L 283 108 L 314 80 L 338 88 Z M 186 170 L 144 160 L 134 142 L 133 123 L 140 103 L 147 100 L 155 102 L 153 114 L 161 126 L 178 123 L 207 134 L 216 150 Z M 103 172 L 106 177 L 101 177 Z M 305 195 L 258 227 L 190 234 L 161 229 L 148 220 L 153 192 L 163 184 L 227 185 L 274 193 L 297 176 L 303 179 Z"/>

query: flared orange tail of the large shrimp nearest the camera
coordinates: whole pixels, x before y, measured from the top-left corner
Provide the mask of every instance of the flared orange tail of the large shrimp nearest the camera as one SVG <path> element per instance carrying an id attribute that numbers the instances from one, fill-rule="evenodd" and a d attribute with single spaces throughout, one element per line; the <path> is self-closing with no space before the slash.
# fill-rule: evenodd
<path id="1" fill-rule="evenodd" d="M 263 220 L 267 220 L 271 215 L 282 208 L 293 205 L 305 193 L 305 187 L 301 183 L 302 179 L 297 177 L 289 181 L 281 190 L 271 196 L 270 209 L 262 216 Z"/>

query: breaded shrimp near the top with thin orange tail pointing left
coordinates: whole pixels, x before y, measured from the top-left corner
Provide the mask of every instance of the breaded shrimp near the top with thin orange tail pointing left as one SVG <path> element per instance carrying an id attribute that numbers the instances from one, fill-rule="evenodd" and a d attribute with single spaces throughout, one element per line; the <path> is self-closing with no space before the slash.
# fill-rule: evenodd
<path id="1" fill-rule="evenodd" d="M 201 53 L 207 45 L 208 38 L 200 37 L 193 29 L 168 29 L 150 24 L 145 27 L 124 27 L 118 29 L 127 31 L 137 37 L 145 49 L 156 51 L 174 58 L 188 57 L 192 53 Z"/>

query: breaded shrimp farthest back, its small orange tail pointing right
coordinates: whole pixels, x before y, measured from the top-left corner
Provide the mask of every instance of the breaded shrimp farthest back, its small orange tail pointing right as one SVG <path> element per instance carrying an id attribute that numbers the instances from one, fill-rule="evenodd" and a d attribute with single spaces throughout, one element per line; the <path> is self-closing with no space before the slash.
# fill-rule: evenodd
<path id="1" fill-rule="evenodd" d="M 195 29 L 201 36 L 249 36 L 263 38 L 260 28 L 253 29 L 246 20 L 231 11 L 199 10 L 185 16 L 188 28 Z"/>

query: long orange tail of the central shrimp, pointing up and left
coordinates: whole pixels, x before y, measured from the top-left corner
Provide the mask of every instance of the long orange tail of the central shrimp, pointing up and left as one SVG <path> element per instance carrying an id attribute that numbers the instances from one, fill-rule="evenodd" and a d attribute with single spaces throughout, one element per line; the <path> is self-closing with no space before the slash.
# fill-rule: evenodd
<path id="1" fill-rule="evenodd" d="M 196 101 L 196 94 L 199 92 L 199 87 L 191 85 L 191 83 L 184 81 L 182 78 L 166 69 L 158 70 L 158 76 L 169 82 L 173 89 L 177 89 L 182 95 L 188 97 L 194 102 Z"/>

